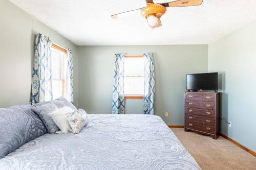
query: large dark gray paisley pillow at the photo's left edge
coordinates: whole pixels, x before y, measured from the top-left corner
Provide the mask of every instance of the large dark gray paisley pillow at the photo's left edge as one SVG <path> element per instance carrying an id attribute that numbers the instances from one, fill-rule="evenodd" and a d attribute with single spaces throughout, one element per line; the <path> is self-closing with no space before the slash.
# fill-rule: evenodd
<path id="1" fill-rule="evenodd" d="M 0 159 L 47 130 L 31 104 L 0 109 Z"/>

